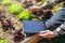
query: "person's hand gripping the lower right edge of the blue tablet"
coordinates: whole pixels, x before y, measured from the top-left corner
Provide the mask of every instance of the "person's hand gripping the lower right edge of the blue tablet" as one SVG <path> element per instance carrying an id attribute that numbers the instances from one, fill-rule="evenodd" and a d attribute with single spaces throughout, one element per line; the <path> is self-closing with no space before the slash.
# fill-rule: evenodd
<path id="1" fill-rule="evenodd" d="M 43 37 L 44 39 L 51 40 L 55 38 L 55 34 L 51 30 L 40 31 L 39 35 Z"/>

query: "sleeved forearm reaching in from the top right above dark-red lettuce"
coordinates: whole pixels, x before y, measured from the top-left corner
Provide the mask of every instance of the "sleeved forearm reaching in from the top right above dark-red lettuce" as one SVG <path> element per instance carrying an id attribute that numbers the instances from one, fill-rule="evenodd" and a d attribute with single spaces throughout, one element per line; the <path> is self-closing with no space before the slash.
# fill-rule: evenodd
<path id="1" fill-rule="evenodd" d="M 61 3 L 63 0 L 50 0 L 47 4 L 42 5 L 43 9 L 53 9 L 54 5 Z"/>

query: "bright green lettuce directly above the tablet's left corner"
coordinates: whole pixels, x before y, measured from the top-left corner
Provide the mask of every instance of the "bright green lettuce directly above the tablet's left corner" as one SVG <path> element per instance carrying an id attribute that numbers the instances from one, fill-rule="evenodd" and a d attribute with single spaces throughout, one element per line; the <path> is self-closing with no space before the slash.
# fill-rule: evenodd
<path id="1" fill-rule="evenodd" d="M 32 14 L 30 12 L 28 12 L 27 10 L 23 11 L 20 15 L 18 18 L 21 20 L 23 19 L 30 19 L 32 17 Z"/>

